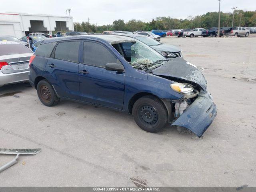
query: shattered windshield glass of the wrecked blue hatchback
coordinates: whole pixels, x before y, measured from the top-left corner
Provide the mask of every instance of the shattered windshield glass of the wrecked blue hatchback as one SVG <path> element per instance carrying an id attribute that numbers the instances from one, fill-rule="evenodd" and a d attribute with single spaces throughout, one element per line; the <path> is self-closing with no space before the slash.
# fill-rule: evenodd
<path id="1" fill-rule="evenodd" d="M 129 44 L 131 58 L 130 64 L 136 69 L 144 71 L 152 70 L 167 61 L 164 56 L 138 40 L 129 42 Z M 129 46 L 127 47 L 127 45 L 123 45 L 123 48 L 129 48 Z"/>

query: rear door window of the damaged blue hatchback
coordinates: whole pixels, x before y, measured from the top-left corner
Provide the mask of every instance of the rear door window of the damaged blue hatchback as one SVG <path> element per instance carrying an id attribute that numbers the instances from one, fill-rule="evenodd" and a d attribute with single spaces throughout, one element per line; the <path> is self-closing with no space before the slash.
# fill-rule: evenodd
<path id="1" fill-rule="evenodd" d="M 59 42 L 54 51 L 54 58 L 78 62 L 80 41 Z"/>

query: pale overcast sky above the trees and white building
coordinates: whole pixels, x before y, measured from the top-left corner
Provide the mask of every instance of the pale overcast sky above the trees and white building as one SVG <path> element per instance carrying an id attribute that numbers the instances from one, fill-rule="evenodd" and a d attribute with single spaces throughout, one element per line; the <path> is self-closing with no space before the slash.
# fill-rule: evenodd
<path id="1" fill-rule="evenodd" d="M 88 21 L 97 24 L 112 24 L 114 20 L 131 19 L 149 22 L 159 16 L 185 19 L 218 11 L 218 0 L 0 0 L 0 13 L 50 14 L 70 16 L 74 22 Z M 231 8 L 255 11 L 256 0 L 221 0 L 220 10 L 232 12 Z"/>

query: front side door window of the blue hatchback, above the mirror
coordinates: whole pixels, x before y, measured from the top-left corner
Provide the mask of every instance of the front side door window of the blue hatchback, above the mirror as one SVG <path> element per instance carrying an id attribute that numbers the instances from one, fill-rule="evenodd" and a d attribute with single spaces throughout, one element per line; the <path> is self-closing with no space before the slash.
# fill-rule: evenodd
<path id="1" fill-rule="evenodd" d="M 107 63 L 120 61 L 105 46 L 96 42 L 84 42 L 84 64 L 105 68 Z"/>

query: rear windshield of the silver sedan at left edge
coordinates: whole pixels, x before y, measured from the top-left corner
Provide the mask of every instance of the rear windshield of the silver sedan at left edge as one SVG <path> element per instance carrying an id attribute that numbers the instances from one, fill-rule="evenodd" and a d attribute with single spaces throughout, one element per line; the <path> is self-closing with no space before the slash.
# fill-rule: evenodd
<path id="1" fill-rule="evenodd" d="M 0 55 L 31 53 L 32 51 L 22 44 L 0 44 Z"/>

